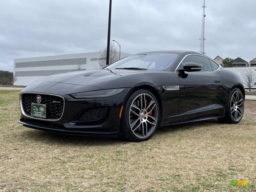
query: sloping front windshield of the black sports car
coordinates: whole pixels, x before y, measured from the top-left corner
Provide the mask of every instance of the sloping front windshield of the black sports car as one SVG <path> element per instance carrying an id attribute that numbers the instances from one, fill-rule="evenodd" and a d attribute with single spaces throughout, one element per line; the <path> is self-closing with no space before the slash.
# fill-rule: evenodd
<path id="1" fill-rule="evenodd" d="M 131 55 L 116 61 L 105 69 L 164 70 L 172 66 L 179 55 L 180 54 L 171 52 Z"/>

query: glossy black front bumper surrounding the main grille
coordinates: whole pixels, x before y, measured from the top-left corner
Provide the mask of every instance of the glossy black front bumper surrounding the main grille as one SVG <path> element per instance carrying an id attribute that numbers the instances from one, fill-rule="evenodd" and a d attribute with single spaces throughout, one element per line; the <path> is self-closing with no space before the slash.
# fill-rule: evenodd
<path id="1" fill-rule="evenodd" d="M 86 100 L 74 99 L 70 95 L 60 95 L 65 100 L 65 108 L 60 119 L 52 121 L 30 117 L 28 114 L 23 114 L 22 110 L 18 123 L 33 129 L 62 134 L 116 137 L 120 131 L 121 106 L 124 105 L 131 90 L 126 88 L 123 92 L 109 98 Z M 104 109 L 102 118 L 95 121 L 86 118 L 88 111 L 99 108 Z"/>

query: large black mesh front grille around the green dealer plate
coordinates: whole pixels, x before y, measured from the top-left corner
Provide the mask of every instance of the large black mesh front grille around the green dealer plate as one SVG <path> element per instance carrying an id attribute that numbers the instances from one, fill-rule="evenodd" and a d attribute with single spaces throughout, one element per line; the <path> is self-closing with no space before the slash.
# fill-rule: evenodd
<path id="1" fill-rule="evenodd" d="M 37 103 L 37 95 L 40 95 L 42 98 L 40 104 L 46 104 L 46 119 L 60 119 L 63 112 L 64 100 L 54 95 L 22 94 L 22 106 L 26 115 L 31 116 L 31 103 Z"/>

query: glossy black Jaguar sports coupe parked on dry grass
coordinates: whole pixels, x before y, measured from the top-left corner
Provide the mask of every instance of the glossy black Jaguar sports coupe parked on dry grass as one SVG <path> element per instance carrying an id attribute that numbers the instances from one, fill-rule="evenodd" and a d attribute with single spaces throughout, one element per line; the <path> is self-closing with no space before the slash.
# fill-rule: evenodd
<path id="1" fill-rule="evenodd" d="M 154 51 L 102 70 L 40 79 L 21 91 L 20 108 L 19 123 L 34 129 L 145 141 L 158 126 L 214 118 L 238 123 L 244 87 L 205 55 Z"/>

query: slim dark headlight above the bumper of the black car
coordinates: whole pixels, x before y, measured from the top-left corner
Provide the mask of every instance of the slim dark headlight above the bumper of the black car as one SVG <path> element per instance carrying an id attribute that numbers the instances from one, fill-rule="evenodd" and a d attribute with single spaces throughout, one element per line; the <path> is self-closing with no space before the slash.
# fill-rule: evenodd
<path id="1" fill-rule="evenodd" d="M 83 93 L 74 93 L 71 96 L 75 99 L 93 99 L 93 98 L 104 98 L 104 97 L 111 97 L 118 93 L 121 93 L 125 88 L 122 89 L 105 89 L 105 90 L 98 90 L 98 91 L 89 91 Z"/>

